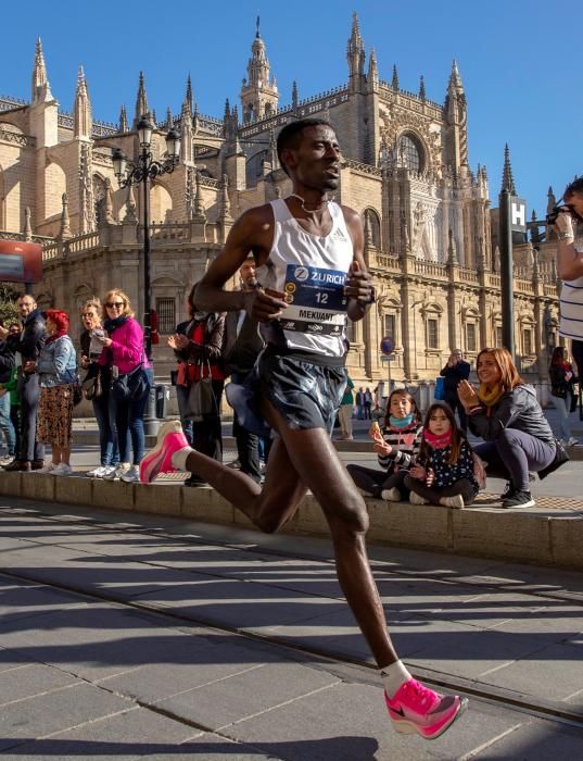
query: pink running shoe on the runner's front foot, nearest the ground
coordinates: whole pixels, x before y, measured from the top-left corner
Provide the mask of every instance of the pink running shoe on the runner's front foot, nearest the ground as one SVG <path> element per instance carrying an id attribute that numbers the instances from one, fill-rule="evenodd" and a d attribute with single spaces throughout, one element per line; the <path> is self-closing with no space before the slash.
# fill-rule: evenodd
<path id="1" fill-rule="evenodd" d="M 443 734 L 468 707 L 467 698 L 440 695 L 417 679 L 404 682 L 392 700 L 385 691 L 384 700 L 397 732 L 417 732 L 428 740 Z"/>

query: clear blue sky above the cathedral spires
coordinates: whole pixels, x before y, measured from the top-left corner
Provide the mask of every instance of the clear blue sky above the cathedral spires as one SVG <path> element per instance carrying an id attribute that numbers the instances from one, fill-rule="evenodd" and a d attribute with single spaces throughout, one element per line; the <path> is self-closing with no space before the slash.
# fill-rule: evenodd
<path id="1" fill-rule="evenodd" d="M 283 105 L 294 79 L 300 98 L 346 82 L 346 40 L 356 11 L 383 79 L 391 79 L 396 63 L 402 88 L 417 91 L 423 74 L 428 98 L 443 102 L 457 60 L 468 97 L 470 163 L 486 165 L 492 205 L 508 142 L 517 190 L 529 214 L 534 208 L 542 216 L 548 186 L 560 195 L 583 173 L 583 24 L 576 8 L 572 3 L 554 17 L 543 0 L 31 0 L 23 21 L 22 7 L 9 3 L 2 10 L 0 92 L 30 97 L 40 36 L 63 110 L 72 109 L 83 64 L 94 118 L 117 122 L 122 102 L 131 117 L 140 70 L 159 118 L 167 105 L 179 112 L 189 73 L 200 111 L 221 116 L 225 98 L 238 102 L 259 13 Z"/>

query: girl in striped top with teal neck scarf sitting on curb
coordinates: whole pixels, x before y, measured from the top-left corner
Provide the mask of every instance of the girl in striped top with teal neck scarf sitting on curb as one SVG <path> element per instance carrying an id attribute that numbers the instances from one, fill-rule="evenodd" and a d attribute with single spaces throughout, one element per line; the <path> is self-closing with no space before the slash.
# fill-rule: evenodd
<path id="1" fill-rule="evenodd" d="M 382 471 L 363 465 L 347 465 L 348 473 L 358 488 L 366 495 L 389 502 L 408 499 L 405 486 L 407 470 L 421 444 L 421 415 L 415 399 L 404 388 L 396 388 L 386 402 L 386 415 L 381 429 L 372 423 L 369 435 Z"/>

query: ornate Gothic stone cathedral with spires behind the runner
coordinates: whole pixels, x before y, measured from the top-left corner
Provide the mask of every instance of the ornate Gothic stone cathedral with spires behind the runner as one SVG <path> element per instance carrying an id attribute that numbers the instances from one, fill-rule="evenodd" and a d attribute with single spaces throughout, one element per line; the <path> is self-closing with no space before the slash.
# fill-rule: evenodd
<path id="1" fill-rule="evenodd" d="M 43 305 L 72 314 L 111 287 L 127 291 L 142 311 L 141 188 L 118 189 L 112 149 L 138 153 L 136 124 L 156 125 L 154 158 L 165 135 L 181 133 L 180 162 L 150 190 L 152 303 L 160 320 L 156 374 L 166 373 L 164 348 L 185 315 L 185 298 L 220 250 L 233 219 L 245 209 L 286 197 L 291 184 L 278 165 L 275 141 L 289 121 L 331 122 L 344 153 L 335 200 L 363 219 L 366 261 L 377 287 L 368 316 L 348 326 L 347 359 L 357 385 L 430 382 L 449 351 L 470 361 L 481 347 L 502 342 L 499 254 L 495 247 L 486 171 L 468 161 L 467 100 L 457 65 L 444 83 L 443 103 L 404 90 L 396 67 L 384 80 L 373 50 L 367 54 L 355 15 L 346 49 L 347 82 L 281 102 L 257 23 L 240 102 L 223 116 L 199 112 L 190 77 L 179 114 L 160 118 L 140 75 L 136 104 L 117 125 L 93 120 L 83 70 L 73 113 L 60 110 L 37 42 L 30 102 L 0 99 L 0 238 L 39 240 L 43 279 L 35 292 Z M 233 72 L 233 76 L 237 72 Z M 506 155 L 505 172 L 511 172 Z M 538 235 L 538 232 L 537 232 Z M 538 238 L 540 239 L 540 238 Z M 554 247 L 525 242 L 516 249 L 515 317 L 518 361 L 533 382 L 546 382 L 557 340 Z M 395 351 L 383 361 L 379 344 Z"/>

